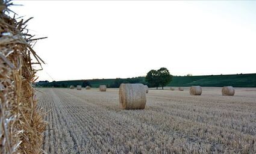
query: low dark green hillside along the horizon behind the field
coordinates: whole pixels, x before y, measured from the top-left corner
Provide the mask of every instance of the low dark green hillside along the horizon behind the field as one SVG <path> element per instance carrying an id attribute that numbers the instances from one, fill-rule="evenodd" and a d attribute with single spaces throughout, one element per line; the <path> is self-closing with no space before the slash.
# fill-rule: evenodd
<path id="1" fill-rule="evenodd" d="M 114 87 L 117 79 L 87 79 L 92 87 L 99 85 L 107 85 Z M 82 85 L 85 80 L 72 81 L 54 81 L 54 82 L 37 82 L 39 87 L 69 87 L 70 85 Z M 144 77 L 119 79 L 118 82 L 125 83 L 142 83 L 146 84 Z M 189 87 L 192 85 L 200 85 L 202 87 L 223 87 L 231 85 L 233 87 L 256 87 L 256 73 L 237 74 L 237 75 L 202 75 L 202 76 L 173 76 L 172 82 L 167 86 L 172 87 Z"/>

